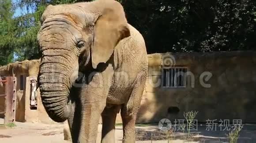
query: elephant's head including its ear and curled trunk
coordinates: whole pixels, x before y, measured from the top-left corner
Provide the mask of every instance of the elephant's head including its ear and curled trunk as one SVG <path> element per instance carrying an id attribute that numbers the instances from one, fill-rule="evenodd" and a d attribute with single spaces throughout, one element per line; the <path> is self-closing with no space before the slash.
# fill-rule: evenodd
<path id="1" fill-rule="evenodd" d="M 64 122 L 79 69 L 106 63 L 117 43 L 130 36 L 124 9 L 114 0 L 49 5 L 41 17 L 38 84 L 49 117 Z"/>

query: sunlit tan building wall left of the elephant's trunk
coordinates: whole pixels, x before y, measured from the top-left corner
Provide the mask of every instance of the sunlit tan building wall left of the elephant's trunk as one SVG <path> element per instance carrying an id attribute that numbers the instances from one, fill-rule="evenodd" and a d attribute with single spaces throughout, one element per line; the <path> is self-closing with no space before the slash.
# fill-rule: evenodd
<path id="1" fill-rule="evenodd" d="M 41 103 L 39 89 L 35 90 L 39 64 L 40 60 L 26 60 L 0 67 L 0 76 L 16 77 L 15 121 L 17 122 L 53 123 Z M 4 104 L 4 98 L 0 98 L 0 104 Z"/>

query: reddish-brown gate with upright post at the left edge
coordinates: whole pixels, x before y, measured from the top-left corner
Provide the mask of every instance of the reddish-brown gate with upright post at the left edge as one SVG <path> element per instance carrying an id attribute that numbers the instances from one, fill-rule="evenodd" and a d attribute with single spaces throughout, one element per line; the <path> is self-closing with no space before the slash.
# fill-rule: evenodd
<path id="1" fill-rule="evenodd" d="M 4 94 L 0 94 L 0 100 L 4 100 L 4 125 L 15 122 L 15 109 L 16 109 L 16 77 L 4 77 L 0 79 L 3 84 Z"/>

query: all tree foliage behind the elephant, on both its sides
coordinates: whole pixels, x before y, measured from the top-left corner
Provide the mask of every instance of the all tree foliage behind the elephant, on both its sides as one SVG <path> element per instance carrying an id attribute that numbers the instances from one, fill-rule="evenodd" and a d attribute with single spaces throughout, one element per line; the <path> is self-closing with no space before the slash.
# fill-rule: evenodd
<path id="1" fill-rule="evenodd" d="M 10 6 L 10 0 L 5 1 Z M 45 7 L 82 1 L 92 0 L 19 0 L 17 6 L 32 13 L 17 18 L 11 18 L 13 11 L 3 13 L 9 20 L 1 21 L 5 27 L 0 31 L 0 50 L 9 49 L 9 53 L 2 54 L 15 52 L 18 60 L 39 58 L 36 38 Z M 255 50 L 254 0 L 118 1 L 128 22 L 145 38 L 148 53 Z"/>

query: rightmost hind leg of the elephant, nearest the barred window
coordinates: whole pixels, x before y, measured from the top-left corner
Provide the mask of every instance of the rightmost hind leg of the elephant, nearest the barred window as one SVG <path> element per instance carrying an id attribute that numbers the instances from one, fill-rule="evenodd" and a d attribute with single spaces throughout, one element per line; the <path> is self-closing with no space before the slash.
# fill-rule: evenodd
<path id="1" fill-rule="evenodd" d="M 143 94 L 145 80 L 136 83 L 127 104 L 121 108 L 123 143 L 135 143 L 135 122 Z"/>

